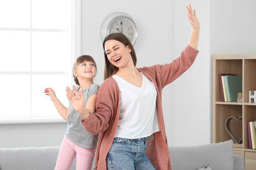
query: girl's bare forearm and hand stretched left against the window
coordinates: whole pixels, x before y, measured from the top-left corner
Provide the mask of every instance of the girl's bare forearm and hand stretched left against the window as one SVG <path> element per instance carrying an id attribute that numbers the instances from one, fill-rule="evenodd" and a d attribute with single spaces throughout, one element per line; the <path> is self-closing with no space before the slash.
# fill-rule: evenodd
<path id="1" fill-rule="evenodd" d="M 69 108 L 67 109 L 56 97 L 55 92 L 52 88 L 45 89 L 46 95 L 50 96 L 50 99 L 54 102 L 55 108 L 58 110 L 59 114 L 63 119 L 67 120 Z"/>

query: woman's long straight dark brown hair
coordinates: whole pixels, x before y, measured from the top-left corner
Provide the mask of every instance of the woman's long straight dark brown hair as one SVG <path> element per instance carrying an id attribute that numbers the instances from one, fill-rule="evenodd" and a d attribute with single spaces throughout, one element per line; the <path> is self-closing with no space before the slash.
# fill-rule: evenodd
<path id="1" fill-rule="evenodd" d="M 116 74 L 119 69 L 110 63 L 108 56 L 106 54 L 105 42 L 107 42 L 108 40 L 116 40 L 116 41 L 122 42 L 125 46 L 129 46 L 131 49 L 131 57 L 132 57 L 134 66 L 136 66 L 136 63 L 137 63 L 136 53 L 135 53 L 132 43 L 129 41 L 129 39 L 124 34 L 121 34 L 121 33 L 109 34 L 103 41 L 103 50 L 104 50 L 104 56 L 105 56 L 104 80 L 106 80 L 110 76 Z"/>

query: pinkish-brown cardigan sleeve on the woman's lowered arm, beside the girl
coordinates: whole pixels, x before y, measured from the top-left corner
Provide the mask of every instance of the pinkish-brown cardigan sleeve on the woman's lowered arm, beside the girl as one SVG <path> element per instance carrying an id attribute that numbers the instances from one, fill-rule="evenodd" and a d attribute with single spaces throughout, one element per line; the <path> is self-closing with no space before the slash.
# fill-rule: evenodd
<path id="1" fill-rule="evenodd" d="M 95 112 L 91 113 L 87 120 L 81 121 L 83 127 L 92 135 L 105 131 L 113 119 L 115 101 L 119 101 L 118 87 L 113 84 L 109 79 L 102 83 L 96 99 Z"/>

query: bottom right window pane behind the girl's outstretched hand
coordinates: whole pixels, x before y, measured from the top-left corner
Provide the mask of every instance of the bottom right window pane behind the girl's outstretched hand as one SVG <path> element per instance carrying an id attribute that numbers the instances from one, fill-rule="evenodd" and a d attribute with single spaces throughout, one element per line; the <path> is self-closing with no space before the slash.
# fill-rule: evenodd
<path id="1" fill-rule="evenodd" d="M 50 97 L 44 93 L 47 87 L 54 89 L 57 98 L 68 108 L 66 97 L 67 75 L 33 75 L 32 76 L 32 113 L 39 117 L 60 117 Z"/>

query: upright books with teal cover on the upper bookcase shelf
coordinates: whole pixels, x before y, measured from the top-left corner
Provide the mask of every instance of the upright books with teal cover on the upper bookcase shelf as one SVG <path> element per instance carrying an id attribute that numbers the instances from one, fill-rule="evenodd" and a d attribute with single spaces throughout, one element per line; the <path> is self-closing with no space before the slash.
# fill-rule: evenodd
<path id="1" fill-rule="evenodd" d="M 242 76 L 219 74 L 221 102 L 238 102 L 238 92 L 242 90 Z"/>

